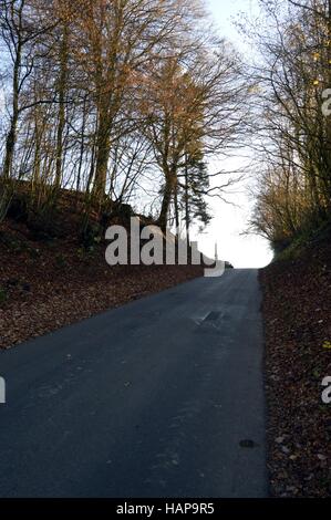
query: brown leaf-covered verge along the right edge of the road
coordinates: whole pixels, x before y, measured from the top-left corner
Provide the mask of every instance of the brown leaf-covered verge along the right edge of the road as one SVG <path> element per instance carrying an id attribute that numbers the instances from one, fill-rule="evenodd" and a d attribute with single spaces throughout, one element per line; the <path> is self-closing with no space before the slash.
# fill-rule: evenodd
<path id="1" fill-rule="evenodd" d="M 278 497 L 331 493 L 330 239 L 298 260 L 261 272 L 265 293 L 268 440 L 271 491 Z"/>

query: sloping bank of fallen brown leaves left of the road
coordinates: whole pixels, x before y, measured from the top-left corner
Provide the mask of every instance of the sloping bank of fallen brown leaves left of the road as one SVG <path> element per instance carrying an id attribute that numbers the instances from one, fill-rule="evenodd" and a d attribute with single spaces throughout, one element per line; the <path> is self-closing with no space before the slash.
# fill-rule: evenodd
<path id="1" fill-rule="evenodd" d="M 24 226 L 0 229 L 0 349 L 203 274 L 200 267 L 116 266 L 105 245 L 35 242 Z"/>

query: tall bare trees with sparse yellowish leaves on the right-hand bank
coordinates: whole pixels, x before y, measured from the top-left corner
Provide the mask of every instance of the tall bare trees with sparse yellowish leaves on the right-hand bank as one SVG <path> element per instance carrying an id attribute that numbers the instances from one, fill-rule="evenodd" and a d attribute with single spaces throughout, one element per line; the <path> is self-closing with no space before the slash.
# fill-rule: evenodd
<path id="1" fill-rule="evenodd" d="M 331 80 L 331 11 L 324 0 L 260 3 L 268 30 L 252 28 L 261 52 L 254 129 L 266 170 L 254 222 L 275 243 L 288 243 L 330 217 L 331 134 L 322 93 Z"/>

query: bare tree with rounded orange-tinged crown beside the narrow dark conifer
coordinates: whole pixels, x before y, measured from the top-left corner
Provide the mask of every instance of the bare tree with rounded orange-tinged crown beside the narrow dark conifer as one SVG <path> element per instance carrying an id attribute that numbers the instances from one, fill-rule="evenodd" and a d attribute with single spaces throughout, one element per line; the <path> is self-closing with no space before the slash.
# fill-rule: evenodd
<path id="1" fill-rule="evenodd" d="M 210 42 L 209 42 L 210 44 Z M 164 175 L 159 223 L 166 228 L 172 200 L 178 223 L 180 171 L 197 155 L 226 153 L 240 135 L 247 92 L 236 56 L 225 43 L 196 48 L 152 66 L 139 81 L 143 132 Z M 204 195 L 220 187 L 207 189 Z M 185 188 L 184 188 L 185 189 Z"/>

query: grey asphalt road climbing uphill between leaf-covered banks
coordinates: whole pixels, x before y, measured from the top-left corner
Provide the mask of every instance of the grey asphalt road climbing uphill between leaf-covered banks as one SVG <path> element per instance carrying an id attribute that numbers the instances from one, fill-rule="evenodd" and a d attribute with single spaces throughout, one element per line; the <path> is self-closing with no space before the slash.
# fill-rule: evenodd
<path id="1" fill-rule="evenodd" d="M 0 497 L 265 497 L 257 271 L 0 353 Z"/>

